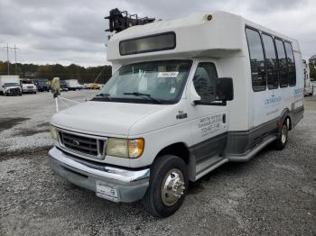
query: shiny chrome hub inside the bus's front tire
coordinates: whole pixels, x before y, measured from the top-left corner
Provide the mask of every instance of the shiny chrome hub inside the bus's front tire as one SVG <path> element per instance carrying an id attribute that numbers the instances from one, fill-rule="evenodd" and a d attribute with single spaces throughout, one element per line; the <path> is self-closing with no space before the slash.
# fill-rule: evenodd
<path id="1" fill-rule="evenodd" d="M 163 204 L 171 206 L 176 204 L 184 194 L 184 180 L 180 169 L 173 168 L 163 178 L 162 200 Z"/>

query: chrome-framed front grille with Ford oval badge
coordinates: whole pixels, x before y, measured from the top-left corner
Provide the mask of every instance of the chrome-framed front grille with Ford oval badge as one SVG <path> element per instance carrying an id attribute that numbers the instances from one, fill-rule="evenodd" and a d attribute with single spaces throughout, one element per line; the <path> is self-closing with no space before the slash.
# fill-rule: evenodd
<path id="1" fill-rule="evenodd" d="M 62 149 L 82 158 L 104 159 L 107 138 L 59 130 Z"/>

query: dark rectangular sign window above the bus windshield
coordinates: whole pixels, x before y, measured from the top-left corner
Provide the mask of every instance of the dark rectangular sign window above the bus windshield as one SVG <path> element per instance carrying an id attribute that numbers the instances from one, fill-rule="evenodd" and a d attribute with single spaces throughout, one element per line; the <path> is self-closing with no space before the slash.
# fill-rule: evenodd
<path id="1" fill-rule="evenodd" d="M 119 52 L 121 55 L 130 55 L 157 50 L 172 50 L 175 48 L 175 43 L 175 33 L 165 32 L 142 38 L 120 41 Z"/>

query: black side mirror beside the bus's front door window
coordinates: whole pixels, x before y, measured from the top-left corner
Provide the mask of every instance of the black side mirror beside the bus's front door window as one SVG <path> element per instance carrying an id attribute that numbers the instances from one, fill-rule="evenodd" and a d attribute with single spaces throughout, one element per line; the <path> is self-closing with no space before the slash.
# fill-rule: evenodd
<path id="1" fill-rule="evenodd" d="M 216 100 L 231 101 L 234 99 L 234 86 L 231 77 L 218 77 L 216 86 Z"/>

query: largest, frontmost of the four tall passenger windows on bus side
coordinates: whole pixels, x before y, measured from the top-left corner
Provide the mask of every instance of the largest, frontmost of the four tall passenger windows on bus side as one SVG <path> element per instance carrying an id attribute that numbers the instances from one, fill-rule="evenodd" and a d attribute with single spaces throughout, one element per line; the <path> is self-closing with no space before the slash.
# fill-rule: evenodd
<path id="1" fill-rule="evenodd" d="M 253 89 L 255 92 L 264 91 L 266 87 L 265 57 L 259 32 L 246 28 L 246 40 L 248 42 Z"/>

